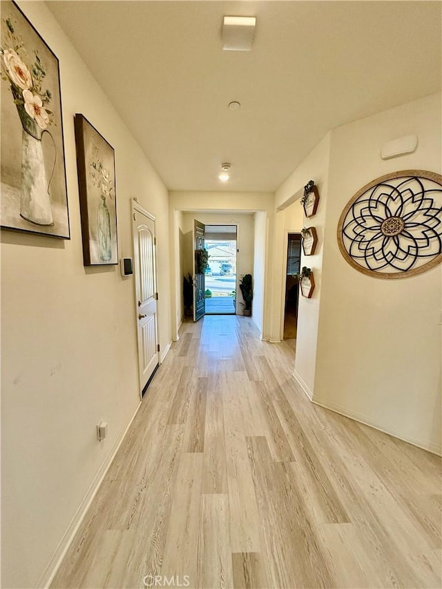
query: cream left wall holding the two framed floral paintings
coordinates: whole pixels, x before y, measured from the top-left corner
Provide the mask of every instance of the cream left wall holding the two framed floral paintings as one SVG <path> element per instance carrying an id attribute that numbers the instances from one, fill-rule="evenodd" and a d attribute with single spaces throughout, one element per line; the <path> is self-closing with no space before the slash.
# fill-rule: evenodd
<path id="1" fill-rule="evenodd" d="M 157 216 L 162 349 L 171 336 L 165 186 L 45 3 L 19 4 L 60 61 L 72 239 L 1 235 L 1 556 L 8 588 L 37 585 L 140 400 L 133 278 L 123 279 L 118 267 L 83 266 L 74 113 L 115 148 L 120 257 L 132 255 L 130 198 Z M 108 437 L 98 443 L 101 419 Z"/>

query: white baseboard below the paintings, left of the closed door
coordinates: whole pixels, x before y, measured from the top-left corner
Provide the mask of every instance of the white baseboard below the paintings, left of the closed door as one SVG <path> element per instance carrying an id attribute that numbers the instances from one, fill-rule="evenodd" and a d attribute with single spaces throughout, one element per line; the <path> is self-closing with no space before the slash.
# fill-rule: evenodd
<path id="1" fill-rule="evenodd" d="M 126 433 L 129 429 L 129 427 L 131 427 L 131 423 L 133 422 L 133 419 L 135 418 L 135 415 L 137 414 L 138 409 L 140 409 L 140 406 L 141 406 L 141 400 L 140 400 L 140 403 L 138 403 L 137 408 L 135 409 L 135 412 L 133 413 L 133 415 L 129 419 L 128 424 L 126 425 L 126 427 L 124 427 L 122 429 L 122 433 L 117 437 L 117 439 L 113 443 L 111 450 L 109 450 L 108 455 L 104 459 L 104 462 L 99 467 L 99 470 L 98 470 L 97 474 L 95 475 L 92 483 L 90 483 L 90 487 L 88 488 L 83 501 L 81 501 L 79 508 L 77 509 L 77 512 L 75 513 L 72 521 L 68 525 L 68 529 L 66 530 L 66 532 L 64 533 L 64 536 L 59 541 L 59 545 L 55 549 L 54 554 L 52 554 L 52 558 L 48 562 L 48 565 L 46 566 L 43 574 L 40 577 L 39 582 L 37 583 L 38 589 L 41 589 L 41 588 L 47 589 L 50 586 L 50 583 L 52 583 L 52 579 L 54 579 L 55 574 L 61 564 L 61 561 L 66 556 L 66 552 L 68 552 L 68 548 L 69 548 L 70 544 L 72 543 L 72 541 L 75 537 L 75 534 L 77 533 L 77 531 L 81 525 L 81 522 L 84 519 L 84 516 L 86 515 L 86 512 L 90 506 L 90 503 L 92 503 L 93 498 L 95 497 L 95 494 L 97 493 L 97 491 L 99 489 L 99 485 L 101 485 L 104 477 L 106 476 L 106 472 L 108 472 L 109 467 L 111 466 L 112 461 L 115 458 L 115 454 L 117 454 L 119 447 L 122 445 L 122 441 L 124 440 L 124 437 L 126 436 Z"/>

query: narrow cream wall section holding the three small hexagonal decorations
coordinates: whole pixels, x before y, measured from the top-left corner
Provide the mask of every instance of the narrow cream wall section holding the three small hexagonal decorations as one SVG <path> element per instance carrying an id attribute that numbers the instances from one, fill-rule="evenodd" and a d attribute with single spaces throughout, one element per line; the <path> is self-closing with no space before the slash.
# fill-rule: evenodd
<path id="1" fill-rule="evenodd" d="M 304 162 L 296 168 L 289 178 L 280 186 L 275 195 L 276 222 L 275 222 L 275 246 L 274 251 L 279 252 L 274 257 L 273 263 L 273 338 L 280 340 L 282 331 L 282 284 L 285 278 L 284 248 L 287 224 L 298 222 L 298 215 L 292 207 L 300 206 L 297 202 L 304 191 L 304 186 L 309 180 L 314 180 L 320 195 L 318 210 L 314 217 L 304 219 L 305 226 L 314 226 L 318 233 L 318 246 L 314 255 L 301 256 L 301 267 L 307 266 L 314 272 L 315 290 L 313 296 L 307 299 L 299 297 L 298 307 L 298 329 L 296 337 L 296 358 L 295 358 L 295 376 L 302 385 L 307 395 L 311 398 L 314 391 L 314 380 L 316 371 L 316 345 L 318 336 L 318 321 L 321 298 L 322 283 L 322 266 L 324 253 L 324 227 L 325 215 L 327 211 L 327 182 L 329 173 L 329 149 L 330 135 L 327 134 L 324 139 L 314 148 L 305 158 Z M 285 205 L 289 204 L 289 211 L 286 212 Z M 278 210 L 279 209 L 279 210 Z"/>

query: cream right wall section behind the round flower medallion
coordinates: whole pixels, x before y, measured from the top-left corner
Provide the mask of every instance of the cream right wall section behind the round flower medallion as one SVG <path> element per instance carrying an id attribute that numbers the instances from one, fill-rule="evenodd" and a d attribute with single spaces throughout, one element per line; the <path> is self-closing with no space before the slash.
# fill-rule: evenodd
<path id="1" fill-rule="evenodd" d="M 412 133 L 415 153 L 381 160 L 384 142 Z M 442 268 L 376 280 L 349 266 L 336 240 L 352 195 L 405 169 L 441 173 L 440 95 L 332 132 L 314 400 L 441 452 Z"/>

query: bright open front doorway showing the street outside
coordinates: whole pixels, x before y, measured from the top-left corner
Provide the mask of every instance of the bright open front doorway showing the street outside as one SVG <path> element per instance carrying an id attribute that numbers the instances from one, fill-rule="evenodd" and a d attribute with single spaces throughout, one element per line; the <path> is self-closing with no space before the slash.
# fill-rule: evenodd
<path id="1" fill-rule="evenodd" d="M 205 276 L 207 315 L 236 313 L 236 225 L 206 225 L 205 243 L 209 267 Z"/>

